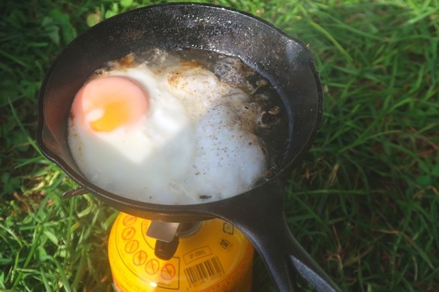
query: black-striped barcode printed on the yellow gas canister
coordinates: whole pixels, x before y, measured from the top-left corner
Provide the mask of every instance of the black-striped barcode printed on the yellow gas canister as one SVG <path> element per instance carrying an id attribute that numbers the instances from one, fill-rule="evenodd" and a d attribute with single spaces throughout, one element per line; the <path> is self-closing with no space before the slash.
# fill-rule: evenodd
<path id="1" fill-rule="evenodd" d="M 185 269 L 185 276 L 191 287 L 197 287 L 200 284 L 205 283 L 207 280 L 221 276 L 223 273 L 224 269 L 222 268 L 221 262 L 219 262 L 217 256 Z"/>

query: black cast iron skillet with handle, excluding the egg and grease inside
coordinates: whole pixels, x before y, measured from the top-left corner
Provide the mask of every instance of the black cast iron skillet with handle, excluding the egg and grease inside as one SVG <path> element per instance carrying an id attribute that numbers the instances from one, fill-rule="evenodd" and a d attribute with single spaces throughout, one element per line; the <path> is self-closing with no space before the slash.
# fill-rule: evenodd
<path id="1" fill-rule="evenodd" d="M 148 204 L 104 191 L 84 178 L 67 145 L 73 97 L 95 69 L 132 51 L 196 48 L 241 58 L 266 77 L 289 115 L 290 139 L 281 171 L 265 184 L 236 197 L 187 206 Z M 307 47 L 252 15 L 215 5 L 173 3 L 119 14 L 91 27 L 62 51 L 40 90 L 36 140 L 80 187 L 64 197 L 94 193 L 137 217 L 183 222 L 219 217 L 239 228 L 263 258 L 279 291 L 296 287 L 300 273 L 319 291 L 337 291 L 292 236 L 283 215 L 285 175 L 311 147 L 322 118 L 322 89 Z"/>

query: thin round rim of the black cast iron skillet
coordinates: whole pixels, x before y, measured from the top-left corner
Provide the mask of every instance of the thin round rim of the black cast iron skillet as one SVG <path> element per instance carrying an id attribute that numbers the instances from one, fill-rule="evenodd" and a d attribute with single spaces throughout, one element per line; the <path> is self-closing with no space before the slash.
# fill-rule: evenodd
<path id="1" fill-rule="evenodd" d="M 53 151 L 51 151 L 45 143 L 45 140 L 47 139 L 47 137 L 45 137 L 45 134 L 47 134 L 47 132 L 48 132 L 47 123 L 46 123 L 45 118 L 44 118 L 45 117 L 45 114 L 44 114 L 44 112 L 45 112 L 45 92 L 47 90 L 47 86 L 49 86 L 49 82 L 51 80 L 51 75 L 54 73 L 54 69 L 56 69 L 58 62 L 60 62 L 60 60 L 62 60 L 62 57 L 64 56 L 65 51 L 68 51 L 69 48 L 73 47 L 77 42 L 81 42 L 82 38 L 84 38 L 83 37 L 84 35 L 93 34 L 93 32 L 95 31 L 94 27 L 108 25 L 108 23 L 110 23 L 111 21 L 115 21 L 115 19 L 117 19 L 118 17 L 126 16 L 129 14 L 140 13 L 141 10 L 166 8 L 168 6 L 174 6 L 174 7 L 180 6 L 182 8 L 183 7 L 185 7 L 185 8 L 187 8 L 187 7 L 213 8 L 213 9 L 217 9 L 217 10 L 226 10 L 229 12 L 244 15 L 250 19 L 253 19 L 255 21 L 259 21 L 263 25 L 269 27 L 269 29 L 274 29 L 278 34 L 281 34 L 281 36 L 287 38 L 287 40 L 292 40 L 292 41 L 296 42 L 302 49 L 305 49 L 307 51 L 307 53 L 309 54 L 308 65 L 310 66 L 310 69 L 313 73 L 314 81 L 316 82 L 316 86 L 317 86 L 317 88 L 316 88 L 317 94 L 318 94 L 317 99 L 316 99 L 318 113 L 316 114 L 316 119 L 313 121 L 312 131 L 311 131 L 311 133 L 309 133 L 307 135 L 307 139 L 305 139 L 305 142 L 302 143 L 301 149 L 292 155 L 292 158 L 290 158 L 289 161 L 287 161 L 285 163 L 285 165 L 283 167 L 281 167 L 281 169 L 279 169 L 279 171 L 274 175 L 273 178 L 271 178 L 267 182 L 263 182 L 263 184 L 260 184 L 259 186 L 255 187 L 255 188 L 250 189 L 249 191 L 235 195 L 235 196 L 230 197 L 230 198 L 220 199 L 220 200 L 217 200 L 214 202 L 205 202 L 205 203 L 200 203 L 200 204 L 167 205 L 167 204 L 154 204 L 154 203 L 149 203 L 149 202 L 137 201 L 134 199 L 129 199 L 127 197 L 123 197 L 121 195 L 117 195 L 115 193 L 111 193 L 109 191 L 105 191 L 104 189 L 99 188 L 99 186 L 95 186 L 95 184 L 91 184 L 90 182 L 88 182 L 88 180 L 86 180 L 86 178 L 84 178 L 82 176 L 82 174 L 71 169 L 71 167 L 69 167 L 69 165 L 67 165 L 67 163 L 64 162 L 64 160 L 60 156 L 58 156 Z M 316 71 L 316 66 L 315 66 L 313 58 L 312 58 L 312 52 L 309 49 L 309 47 L 307 47 L 307 45 L 305 45 L 305 42 L 302 42 L 302 40 L 299 40 L 298 38 L 295 38 L 293 36 L 289 36 L 289 34 L 284 32 L 282 29 L 276 27 L 272 23 L 265 21 L 265 19 L 261 19 L 261 17 L 255 16 L 255 15 L 250 14 L 248 12 L 244 12 L 241 10 L 237 10 L 235 8 L 229 8 L 229 7 L 225 7 L 222 5 L 216 5 L 216 4 L 212 4 L 212 3 L 195 3 L 195 2 L 158 3 L 158 4 L 154 4 L 154 5 L 148 5 L 148 6 L 145 6 L 143 8 L 137 8 L 135 10 L 130 10 L 128 12 L 123 12 L 121 14 L 117 14 L 116 16 L 112 16 L 111 18 L 106 19 L 106 20 L 102 21 L 101 23 L 97 23 L 97 25 L 87 29 L 85 32 L 80 34 L 77 38 L 72 40 L 72 42 L 70 42 L 69 45 L 67 45 L 67 47 L 65 47 L 60 52 L 60 54 L 57 56 L 56 60 L 51 64 L 51 66 L 49 67 L 49 70 L 47 71 L 47 73 L 45 75 L 45 79 L 43 80 L 43 84 L 40 88 L 40 93 L 39 93 L 38 99 L 39 99 L 38 100 L 38 125 L 37 125 L 37 130 L 36 130 L 36 143 L 37 143 L 38 147 L 40 147 L 40 150 L 43 152 L 43 154 L 49 160 L 56 163 L 56 165 L 58 165 L 67 175 L 69 175 L 69 177 L 71 179 L 73 179 L 76 183 L 78 183 L 80 185 L 80 188 L 84 188 L 84 190 L 86 190 L 90 193 L 93 193 L 93 195 L 97 195 L 100 199 L 104 199 L 104 201 L 108 202 L 112 206 L 115 206 L 115 208 L 117 208 L 119 210 L 128 208 L 129 210 L 134 209 L 134 210 L 137 210 L 139 212 L 146 212 L 146 213 L 165 212 L 169 215 L 177 215 L 177 216 L 187 214 L 188 212 L 190 212 L 190 213 L 195 212 L 195 213 L 199 213 L 198 215 L 203 215 L 205 213 L 206 209 L 219 208 L 219 205 L 228 204 L 228 202 L 230 202 L 230 201 L 232 201 L 232 202 L 236 201 L 236 203 L 238 203 L 239 199 L 242 199 L 244 197 L 248 197 L 248 194 L 250 193 L 250 195 L 251 195 L 251 193 L 254 192 L 255 189 L 260 188 L 261 186 L 268 184 L 272 181 L 278 180 L 281 176 L 285 175 L 285 173 L 287 172 L 287 169 L 292 169 L 297 164 L 298 160 L 300 160 L 300 158 L 303 155 L 305 155 L 307 153 L 307 151 L 309 150 L 309 148 L 311 147 L 313 141 L 316 138 L 316 135 L 318 134 L 318 130 L 320 128 L 320 125 L 322 123 L 322 109 L 323 109 L 323 92 L 322 92 L 322 86 L 320 83 L 320 78 L 318 77 L 318 73 Z M 123 208 L 120 208 L 121 205 L 123 205 Z"/>

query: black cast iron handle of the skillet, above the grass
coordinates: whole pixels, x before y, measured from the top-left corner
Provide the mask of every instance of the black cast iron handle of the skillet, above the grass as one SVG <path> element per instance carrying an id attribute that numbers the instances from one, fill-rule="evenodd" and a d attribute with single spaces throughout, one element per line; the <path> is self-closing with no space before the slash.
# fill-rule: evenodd
<path id="1" fill-rule="evenodd" d="M 264 184 L 257 192 L 242 198 L 242 204 L 222 206 L 222 211 L 216 213 L 252 241 L 278 291 L 297 291 L 295 273 L 317 291 L 340 291 L 289 231 L 283 214 L 282 186 Z"/>

